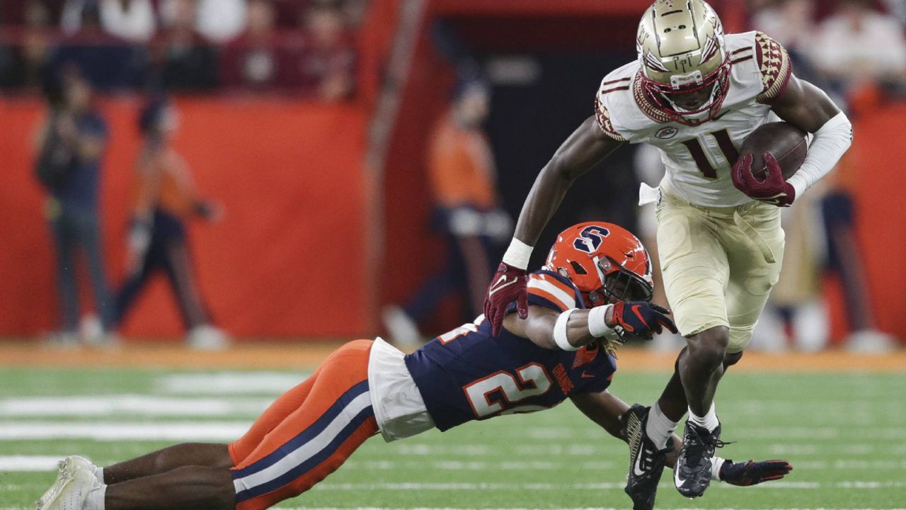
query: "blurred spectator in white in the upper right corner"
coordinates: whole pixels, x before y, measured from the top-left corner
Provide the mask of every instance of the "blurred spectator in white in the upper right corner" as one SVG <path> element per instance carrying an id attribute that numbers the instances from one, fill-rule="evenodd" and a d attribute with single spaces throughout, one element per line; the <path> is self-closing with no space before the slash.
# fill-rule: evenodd
<path id="1" fill-rule="evenodd" d="M 818 26 L 810 48 L 815 66 L 843 89 L 906 78 L 902 27 L 896 18 L 874 11 L 869 0 L 842 0 Z"/>

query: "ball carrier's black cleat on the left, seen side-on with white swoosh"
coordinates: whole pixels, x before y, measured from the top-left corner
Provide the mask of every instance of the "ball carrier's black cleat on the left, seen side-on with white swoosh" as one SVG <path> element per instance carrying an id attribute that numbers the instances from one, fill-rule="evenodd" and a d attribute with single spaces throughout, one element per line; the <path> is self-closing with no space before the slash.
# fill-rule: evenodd
<path id="1" fill-rule="evenodd" d="M 626 480 L 626 494 L 632 498 L 634 510 L 654 508 L 654 496 L 658 492 L 660 474 L 664 471 L 667 452 L 673 449 L 673 438 L 667 440 L 667 447 L 659 450 L 645 433 L 648 412 L 651 407 L 634 404 L 623 415 L 623 434 L 629 443 L 629 476 Z"/>

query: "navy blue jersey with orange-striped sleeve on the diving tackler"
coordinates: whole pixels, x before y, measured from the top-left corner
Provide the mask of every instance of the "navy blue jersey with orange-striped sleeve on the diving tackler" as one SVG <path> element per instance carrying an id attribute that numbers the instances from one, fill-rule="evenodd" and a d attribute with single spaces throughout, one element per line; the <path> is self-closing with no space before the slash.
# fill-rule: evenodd
<path id="1" fill-rule="evenodd" d="M 573 283 L 551 271 L 529 277 L 528 303 L 557 311 L 583 308 Z M 554 407 L 611 384 L 615 360 L 599 342 L 574 352 L 536 346 L 506 329 L 497 338 L 485 317 L 434 338 L 406 356 L 425 406 L 440 430 L 473 419 Z"/>

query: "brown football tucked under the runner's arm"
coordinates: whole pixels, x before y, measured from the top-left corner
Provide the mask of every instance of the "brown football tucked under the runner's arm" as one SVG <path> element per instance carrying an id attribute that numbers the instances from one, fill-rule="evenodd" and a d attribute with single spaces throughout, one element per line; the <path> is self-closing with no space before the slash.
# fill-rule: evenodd
<path id="1" fill-rule="evenodd" d="M 788 123 L 766 123 L 758 126 L 742 142 L 739 157 L 747 152 L 751 153 L 752 175 L 762 180 L 765 178 L 763 155 L 770 152 L 780 163 L 786 180 L 799 170 L 807 151 L 808 142 L 805 141 L 804 131 Z"/>

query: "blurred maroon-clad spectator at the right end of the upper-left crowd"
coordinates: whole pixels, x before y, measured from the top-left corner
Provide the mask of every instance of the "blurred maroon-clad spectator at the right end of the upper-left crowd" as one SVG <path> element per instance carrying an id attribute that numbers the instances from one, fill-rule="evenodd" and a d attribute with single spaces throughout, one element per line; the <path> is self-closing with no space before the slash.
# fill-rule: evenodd
<path id="1" fill-rule="evenodd" d="M 305 17 L 307 46 L 300 62 L 300 83 L 320 98 L 336 101 L 352 93 L 355 49 L 345 36 L 343 13 L 336 5 L 316 5 Z"/>

